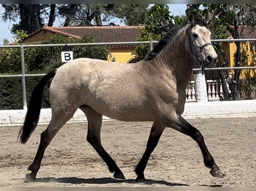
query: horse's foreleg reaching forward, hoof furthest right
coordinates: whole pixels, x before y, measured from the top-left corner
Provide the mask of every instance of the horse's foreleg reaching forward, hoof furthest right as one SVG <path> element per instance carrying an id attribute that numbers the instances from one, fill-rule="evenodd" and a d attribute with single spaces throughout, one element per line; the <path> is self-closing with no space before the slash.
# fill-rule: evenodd
<path id="1" fill-rule="evenodd" d="M 221 172 L 220 168 L 215 163 L 213 156 L 209 152 L 202 133 L 196 127 L 186 121 L 183 117 L 180 116 L 178 120 L 179 122 L 171 123 L 169 127 L 193 138 L 198 143 L 202 151 L 205 166 L 211 169 L 211 175 L 213 177 L 222 178 L 224 174 Z"/>

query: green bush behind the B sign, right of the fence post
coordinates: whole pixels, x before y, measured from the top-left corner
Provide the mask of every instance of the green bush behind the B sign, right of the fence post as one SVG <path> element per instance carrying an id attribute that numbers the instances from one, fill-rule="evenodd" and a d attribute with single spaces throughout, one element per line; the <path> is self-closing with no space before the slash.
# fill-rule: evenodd
<path id="1" fill-rule="evenodd" d="M 41 44 L 70 44 L 70 43 L 93 43 L 96 42 L 92 37 L 83 39 L 66 38 L 62 35 L 54 35 L 50 39 L 44 40 Z M 109 49 L 105 46 L 74 46 L 74 47 L 42 47 L 29 48 L 27 51 L 35 51 L 34 57 L 27 55 L 25 57 L 27 73 L 43 73 L 58 68 L 61 63 L 61 51 L 73 51 L 73 58 L 96 58 L 107 60 Z"/>

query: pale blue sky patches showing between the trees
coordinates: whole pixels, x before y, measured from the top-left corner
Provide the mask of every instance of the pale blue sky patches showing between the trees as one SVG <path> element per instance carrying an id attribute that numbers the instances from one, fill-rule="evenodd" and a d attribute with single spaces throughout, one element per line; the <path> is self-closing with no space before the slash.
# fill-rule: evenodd
<path id="1" fill-rule="evenodd" d="M 173 15 L 185 14 L 186 4 L 168 4 L 168 6 L 169 6 L 169 11 Z M 0 7 L 0 15 L 2 15 L 3 13 L 4 13 L 4 9 L 1 6 Z M 119 19 L 114 19 L 114 22 L 116 24 L 119 24 L 120 26 L 124 25 L 124 24 L 120 23 Z M 11 29 L 12 25 L 15 23 L 18 23 L 18 22 L 9 22 L 9 21 L 3 22 L 2 20 L 0 20 L 0 29 L 2 29 L 1 33 L 0 33 L 0 44 L 3 43 L 3 39 L 8 39 L 10 42 L 13 41 L 13 35 L 11 34 L 10 29 Z M 58 19 L 56 19 L 53 26 L 61 26 Z"/>

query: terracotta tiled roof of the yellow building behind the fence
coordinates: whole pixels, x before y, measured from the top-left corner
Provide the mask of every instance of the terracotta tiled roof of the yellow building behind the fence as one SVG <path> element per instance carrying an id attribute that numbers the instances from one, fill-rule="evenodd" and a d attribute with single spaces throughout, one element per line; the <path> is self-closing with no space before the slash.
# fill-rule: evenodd
<path id="1" fill-rule="evenodd" d="M 137 36 L 139 35 L 138 28 L 142 27 L 144 26 L 43 27 L 42 29 L 80 39 L 83 38 L 83 36 L 89 35 L 93 36 L 98 42 L 134 42 L 137 41 Z M 135 46 L 136 45 L 111 45 L 109 47 Z"/>

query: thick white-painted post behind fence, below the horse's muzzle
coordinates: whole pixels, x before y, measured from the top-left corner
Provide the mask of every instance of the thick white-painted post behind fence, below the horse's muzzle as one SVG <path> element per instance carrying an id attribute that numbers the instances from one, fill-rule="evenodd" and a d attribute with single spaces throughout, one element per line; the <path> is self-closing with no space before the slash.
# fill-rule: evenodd
<path id="1" fill-rule="evenodd" d="M 208 102 L 205 75 L 202 71 L 194 71 L 196 102 Z"/>

